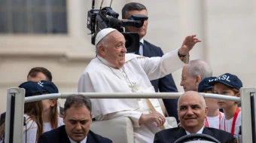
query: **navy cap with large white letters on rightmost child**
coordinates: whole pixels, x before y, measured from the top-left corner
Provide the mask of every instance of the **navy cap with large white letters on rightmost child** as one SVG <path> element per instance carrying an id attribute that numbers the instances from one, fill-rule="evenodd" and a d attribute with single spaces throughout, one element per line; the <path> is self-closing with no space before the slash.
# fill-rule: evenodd
<path id="1" fill-rule="evenodd" d="M 240 90 L 242 87 L 242 81 L 236 75 L 232 75 L 230 73 L 221 75 L 218 78 L 215 78 L 213 81 L 209 82 L 209 84 L 212 86 L 216 83 L 225 84 L 228 87 L 233 87 L 237 90 Z"/>

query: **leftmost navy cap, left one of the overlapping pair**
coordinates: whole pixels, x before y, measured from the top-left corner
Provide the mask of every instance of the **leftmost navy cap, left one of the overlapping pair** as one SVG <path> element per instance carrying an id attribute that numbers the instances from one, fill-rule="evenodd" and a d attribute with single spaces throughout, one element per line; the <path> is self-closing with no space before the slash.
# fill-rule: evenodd
<path id="1" fill-rule="evenodd" d="M 43 94 L 43 89 L 33 81 L 26 81 L 23 84 L 20 84 L 20 88 L 24 88 L 26 90 L 25 97 L 33 96 L 35 93 Z"/>

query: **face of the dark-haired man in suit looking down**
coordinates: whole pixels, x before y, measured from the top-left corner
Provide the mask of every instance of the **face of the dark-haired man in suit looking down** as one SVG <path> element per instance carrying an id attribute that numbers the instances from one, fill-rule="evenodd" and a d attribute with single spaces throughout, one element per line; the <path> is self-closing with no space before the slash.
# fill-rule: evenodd
<path id="1" fill-rule="evenodd" d="M 92 115 L 85 105 L 68 108 L 63 118 L 69 138 L 82 141 L 87 136 L 92 123 Z"/>

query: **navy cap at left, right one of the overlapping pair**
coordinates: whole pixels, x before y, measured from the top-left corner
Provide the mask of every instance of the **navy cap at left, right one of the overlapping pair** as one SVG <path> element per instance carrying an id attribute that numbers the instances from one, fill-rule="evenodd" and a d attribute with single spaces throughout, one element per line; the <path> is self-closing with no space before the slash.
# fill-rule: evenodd
<path id="1" fill-rule="evenodd" d="M 43 93 L 59 93 L 58 88 L 51 81 L 39 81 L 37 84 L 43 89 Z"/>

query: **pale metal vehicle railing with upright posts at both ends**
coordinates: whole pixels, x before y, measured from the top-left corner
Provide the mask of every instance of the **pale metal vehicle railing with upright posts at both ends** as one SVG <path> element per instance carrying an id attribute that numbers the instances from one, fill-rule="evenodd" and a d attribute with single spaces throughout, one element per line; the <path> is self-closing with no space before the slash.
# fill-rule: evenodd
<path id="1" fill-rule="evenodd" d="M 255 91 L 256 88 L 241 88 L 241 98 L 218 94 L 201 93 L 206 99 L 222 99 L 241 102 L 242 105 L 242 142 L 256 143 L 255 133 Z M 69 95 L 80 94 L 90 99 L 175 99 L 183 93 L 54 93 L 25 98 L 25 90 L 9 88 L 5 118 L 5 143 L 23 141 L 24 103 L 43 99 L 66 99 Z M 10 126 L 14 125 L 14 126 Z"/>

